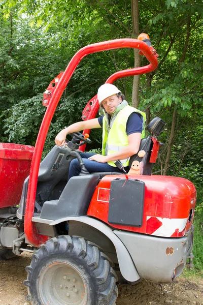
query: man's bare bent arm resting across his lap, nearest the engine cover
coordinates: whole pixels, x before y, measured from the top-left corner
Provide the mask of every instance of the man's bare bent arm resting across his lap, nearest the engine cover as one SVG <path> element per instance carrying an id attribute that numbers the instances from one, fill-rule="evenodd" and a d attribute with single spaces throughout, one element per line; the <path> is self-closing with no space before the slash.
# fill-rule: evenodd
<path id="1" fill-rule="evenodd" d="M 110 161 L 117 161 L 117 160 L 123 160 L 127 159 L 134 154 L 137 154 L 140 147 L 140 141 L 141 141 L 141 133 L 132 133 L 128 137 L 128 145 L 123 147 L 118 153 L 114 153 L 109 156 L 102 156 L 102 155 L 94 155 L 89 158 L 89 160 L 97 161 L 100 163 L 106 163 Z"/>

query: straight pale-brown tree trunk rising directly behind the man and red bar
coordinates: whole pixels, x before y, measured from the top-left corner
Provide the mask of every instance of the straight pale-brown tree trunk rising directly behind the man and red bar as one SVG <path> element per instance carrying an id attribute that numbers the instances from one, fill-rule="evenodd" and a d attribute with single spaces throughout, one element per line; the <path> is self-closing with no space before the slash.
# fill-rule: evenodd
<path id="1" fill-rule="evenodd" d="M 132 38 L 137 38 L 139 35 L 139 3 L 138 0 L 131 0 L 131 15 L 132 15 Z M 140 67 L 141 56 L 139 50 L 134 49 L 134 68 Z M 140 75 L 134 75 L 132 86 L 132 106 L 139 106 L 139 85 Z"/>

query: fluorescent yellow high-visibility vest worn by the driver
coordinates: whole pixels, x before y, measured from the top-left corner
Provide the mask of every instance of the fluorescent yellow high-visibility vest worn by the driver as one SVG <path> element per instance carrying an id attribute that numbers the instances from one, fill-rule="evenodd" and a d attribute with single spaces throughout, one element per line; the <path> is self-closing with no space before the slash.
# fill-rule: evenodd
<path id="1" fill-rule="evenodd" d="M 144 112 L 127 105 L 118 112 L 111 128 L 108 124 L 108 120 L 105 114 L 103 117 L 103 143 L 102 143 L 103 156 L 109 156 L 114 153 L 118 153 L 118 151 L 120 151 L 124 146 L 128 145 L 126 124 L 128 117 L 133 112 L 140 113 L 143 117 L 143 131 L 142 131 L 141 139 L 145 137 L 146 114 Z M 129 159 L 130 157 L 124 160 L 120 160 L 124 167 L 128 166 Z M 116 167 L 115 163 L 112 161 L 108 162 L 108 164 Z"/>

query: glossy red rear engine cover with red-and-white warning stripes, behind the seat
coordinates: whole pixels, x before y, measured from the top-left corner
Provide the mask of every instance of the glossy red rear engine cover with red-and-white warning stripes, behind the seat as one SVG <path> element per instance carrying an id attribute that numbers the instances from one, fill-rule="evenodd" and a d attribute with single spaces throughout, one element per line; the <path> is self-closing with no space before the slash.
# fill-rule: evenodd
<path id="1" fill-rule="evenodd" d="M 108 222 L 111 181 L 118 178 L 138 179 L 145 182 L 143 225 L 140 228 Z M 120 230 L 162 237 L 182 237 L 192 224 L 195 201 L 195 187 L 185 178 L 159 175 L 108 175 L 102 178 L 96 187 L 87 215 Z"/>

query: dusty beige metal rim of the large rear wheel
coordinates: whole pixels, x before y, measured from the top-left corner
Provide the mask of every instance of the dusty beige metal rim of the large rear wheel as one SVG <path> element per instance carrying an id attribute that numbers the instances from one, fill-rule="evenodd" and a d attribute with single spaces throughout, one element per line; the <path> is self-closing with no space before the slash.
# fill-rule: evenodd
<path id="1" fill-rule="evenodd" d="M 86 305 L 87 283 L 73 265 L 55 261 L 41 272 L 38 290 L 42 303 L 54 305 Z"/>

